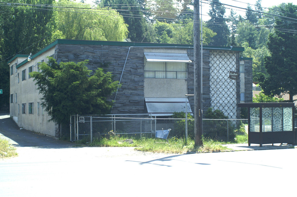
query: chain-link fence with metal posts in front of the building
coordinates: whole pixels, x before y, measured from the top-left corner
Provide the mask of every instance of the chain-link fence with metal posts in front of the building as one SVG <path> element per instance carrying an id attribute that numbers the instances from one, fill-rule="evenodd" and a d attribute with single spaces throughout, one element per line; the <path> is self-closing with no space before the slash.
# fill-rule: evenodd
<path id="1" fill-rule="evenodd" d="M 101 137 L 152 138 L 155 131 L 171 129 L 172 137 L 194 139 L 194 119 L 153 118 L 150 114 L 71 116 L 71 140 L 90 140 Z M 232 141 L 238 134 L 247 133 L 247 119 L 203 119 L 203 136 L 213 140 Z"/>

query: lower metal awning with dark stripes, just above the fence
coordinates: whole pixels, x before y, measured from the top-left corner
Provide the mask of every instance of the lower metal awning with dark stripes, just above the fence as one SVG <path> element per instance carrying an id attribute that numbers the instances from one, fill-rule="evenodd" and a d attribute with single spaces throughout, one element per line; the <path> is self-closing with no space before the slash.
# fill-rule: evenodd
<path id="1" fill-rule="evenodd" d="M 144 98 L 146 109 L 152 116 L 171 116 L 173 112 L 186 112 L 186 98 Z M 192 110 L 187 99 L 187 112 Z"/>

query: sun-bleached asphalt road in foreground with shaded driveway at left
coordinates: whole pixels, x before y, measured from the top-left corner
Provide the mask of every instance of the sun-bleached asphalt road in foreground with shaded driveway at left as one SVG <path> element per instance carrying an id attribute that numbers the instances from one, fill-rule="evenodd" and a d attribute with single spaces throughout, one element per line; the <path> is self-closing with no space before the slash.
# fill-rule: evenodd
<path id="1" fill-rule="evenodd" d="M 296 148 L 165 155 L 73 147 L 9 119 L 0 133 L 19 156 L 0 160 L 1 197 L 296 196 Z"/>

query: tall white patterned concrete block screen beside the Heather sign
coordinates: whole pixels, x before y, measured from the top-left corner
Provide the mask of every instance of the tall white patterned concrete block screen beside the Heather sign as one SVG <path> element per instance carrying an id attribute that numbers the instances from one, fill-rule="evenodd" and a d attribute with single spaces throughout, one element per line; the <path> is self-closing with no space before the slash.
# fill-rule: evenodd
<path id="1" fill-rule="evenodd" d="M 211 107 L 236 119 L 236 80 L 229 79 L 229 71 L 236 72 L 236 52 L 210 51 Z"/>

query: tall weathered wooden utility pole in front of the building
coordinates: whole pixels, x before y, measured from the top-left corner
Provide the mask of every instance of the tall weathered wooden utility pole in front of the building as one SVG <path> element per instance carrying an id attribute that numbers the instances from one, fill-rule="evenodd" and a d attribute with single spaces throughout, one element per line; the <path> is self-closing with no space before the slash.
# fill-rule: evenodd
<path id="1" fill-rule="evenodd" d="M 200 16 L 199 0 L 194 0 L 194 118 L 195 146 L 202 146 L 202 95 L 201 95 L 201 63 L 200 63 Z M 201 57 L 202 58 L 202 57 Z"/>

